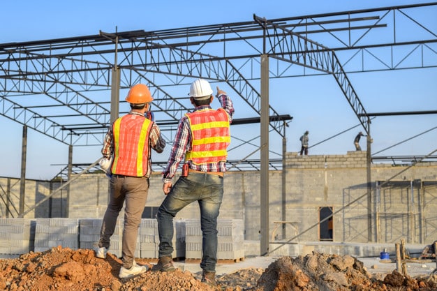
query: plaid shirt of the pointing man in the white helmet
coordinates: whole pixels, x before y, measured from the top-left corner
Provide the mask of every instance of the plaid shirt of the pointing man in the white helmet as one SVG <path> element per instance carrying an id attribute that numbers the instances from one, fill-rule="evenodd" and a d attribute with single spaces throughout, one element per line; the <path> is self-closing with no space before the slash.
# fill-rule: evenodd
<path id="1" fill-rule="evenodd" d="M 232 122 L 232 116 L 234 115 L 234 106 L 232 105 L 232 100 L 225 95 L 221 94 L 218 96 L 218 101 L 221 104 L 221 107 L 228 112 L 229 115 L 229 123 Z M 202 105 L 195 107 L 195 111 L 197 110 L 205 110 L 206 108 L 211 109 L 210 105 Z M 185 154 L 187 151 L 191 151 L 191 140 L 193 137 L 191 136 L 190 123 L 188 121 L 188 117 L 184 116 L 179 121 L 179 126 L 177 127 L 177 132 L 175 136 L 175 142 L 173 143 L 172 152 L 170 153 L 170 158 L 168 158 L 167 168 L 163 172 L 163 182 L 168 183 L 172 181 L 172 178 L 175 177 L 177 167 L 179 167 L 179 163 L 184 161 Z M 218 163 L 205 163 L 196 165 L 188 161 L 188 167 L 193 170 L 198 170 L 202 172 L 226 172 L 226 163 L 223 161 L 219 161 Z"/>

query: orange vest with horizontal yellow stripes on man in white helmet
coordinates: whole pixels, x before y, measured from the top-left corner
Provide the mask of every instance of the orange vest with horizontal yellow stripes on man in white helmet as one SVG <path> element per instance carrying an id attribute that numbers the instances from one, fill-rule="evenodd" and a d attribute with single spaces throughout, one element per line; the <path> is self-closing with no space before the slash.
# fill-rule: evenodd
<path id="1" fill-rule="evenodd" d="M 228 112 L 223 108 L 207 108 L 185 115 L 193 136 L 191 151 L 185 154 L 185 160 L 197 165 L 226 161 L 230 144 Z"/>

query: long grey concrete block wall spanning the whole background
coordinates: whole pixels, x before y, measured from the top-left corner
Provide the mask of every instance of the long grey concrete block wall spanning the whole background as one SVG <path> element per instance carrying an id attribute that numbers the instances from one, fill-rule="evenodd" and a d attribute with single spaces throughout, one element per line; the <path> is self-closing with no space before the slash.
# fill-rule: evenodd
<path id="1" fill-rule="evenodd" d="M 366 151 L 346 155 L 286 154 L 285 193 L 282 171 L 269 173 L 269 235 L 271 241 L 321 241 L 327 223 L 322 209 L 334 213 L 332 241 L 430 244 L 437 233 L 437 163 L 414 166 L 380 163 L 367 171 Z M 368 192 L 370 174 L 371 192 Z M 260 172 L 228 172 L 220 217 L 242 219 L 244 239 L 260 236 Z M 61 183 L 27 180 L 24 209 L 50 195 Z M 20 179 L 0 178 L 0 216 L 17 217 Z M 164 198 L 161 175 L 150 179 L 147 213 Z M 45 200 L 25 218 L 102 218 L 108 203 L 108 178 L 84 174 Z M 283 216 L 282 209 L 286 214 Z M 370 210 L 369 210 L 370 209 Z M 122 216 L 121 216 L 122 217 Z M 177 218 L 198 218 L 197 204 Z"/>

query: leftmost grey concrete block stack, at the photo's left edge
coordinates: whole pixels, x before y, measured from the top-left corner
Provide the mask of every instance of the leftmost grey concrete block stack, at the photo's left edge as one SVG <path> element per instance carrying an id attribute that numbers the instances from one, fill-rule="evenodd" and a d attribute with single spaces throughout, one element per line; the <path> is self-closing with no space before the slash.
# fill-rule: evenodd
<path id="1" fill-rule="evenodd" d="M 0 219 L 1 258 L 16 258 L 17 255 L 33 251 L 32 226 L 32 221 L 27 218 Z"/>

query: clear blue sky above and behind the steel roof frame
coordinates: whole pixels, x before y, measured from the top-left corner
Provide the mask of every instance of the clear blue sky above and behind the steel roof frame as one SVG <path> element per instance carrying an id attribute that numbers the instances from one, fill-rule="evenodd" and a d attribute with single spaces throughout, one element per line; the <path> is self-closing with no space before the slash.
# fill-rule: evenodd
<path id="1" fill-rule="evenodd" d="M 267 19 L 346 10 L 423 3 L 424 1 L 3 1 L 0 43 L 48 40 L 142 29 L 154 31 L 227 22 L 245 22 L 253 14 Z M 434 22 L 436 18 L 434 17 Z M 436 23 L 437 25 L 437 23 Z M 367 112 L 437 110 L 437 70 L 395 70 L 350 75 Z M 223 88 L 227 90 L 227 88 Z M 188 89 L 187 89 L 188 91 Z M 287 128 L 287 150 L 299 151 L 299 136 L 310 132 L 310 146 L 359 123 L 332 76 L 299 77 L 270 84 L 270 102 L 279 114 L 293 117 Z M 217 105 L 217 103 L 215 103 Z M 239 118 L 236 108 L 235 118 Z M 0 176 L 20 177 L 22 125 L 0 117 Z M 437 126 L 436 115 L 377 117 L 371 124 L 375 153 Z M 259 126 L 238 130 L 259 135 Z M 235 130 L 238 132 L 238 130 Z M 362 128 L 310 149 L 310 154 L 346 154 Z M 437 130 L 383 151 L 384 156 L 426 155 L 436 149 Z M 281 153 L 281 140 L 271 139 Z M 362 148 L 366 149 L 365 138 Z M 27 178 L 51 179 L 66 164 L 68 147 L 34 130 L 28 132 Z M 231 146 L 232 147 L 232 146 Z M 255 149 L 255 148 L 254 148 Z M 73 163 L 91 163 L 100 148 L 74 149 Z M 232 157 L 232 156 L 231 156 Z M 241 158 L 242 155 L 239 154 Z M 271 154 L 271 158 L 279 156 Z M 157 156 L 155 161 L 166 161 Z"/>

